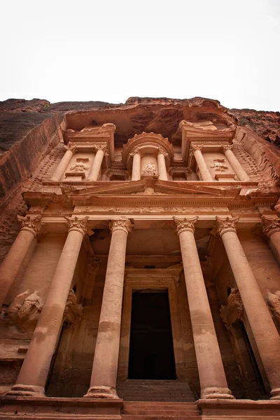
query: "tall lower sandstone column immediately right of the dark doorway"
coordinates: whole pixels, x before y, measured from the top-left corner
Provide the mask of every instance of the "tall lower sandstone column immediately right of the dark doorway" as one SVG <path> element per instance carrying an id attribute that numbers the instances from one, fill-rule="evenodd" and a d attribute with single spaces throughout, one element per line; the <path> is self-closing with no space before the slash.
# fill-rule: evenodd
<path id="1" fill-rule="evenodd" d="M 234 398 L 228 389 L 211 309 L 207 297 L 200 259 L 195 244 L 198 217 L 174 217 L 179 235 L 186 279 L 190 320 L 200 375 L 201 398 Z"/>

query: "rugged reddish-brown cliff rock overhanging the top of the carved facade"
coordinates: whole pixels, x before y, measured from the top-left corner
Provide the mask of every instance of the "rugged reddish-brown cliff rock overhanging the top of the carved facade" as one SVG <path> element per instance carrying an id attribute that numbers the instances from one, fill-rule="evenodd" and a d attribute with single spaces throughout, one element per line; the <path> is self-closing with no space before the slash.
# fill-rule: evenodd
<path id="1" fill-rule="evenodd" d="M 249 142 L 258 134 L 260 141 L 260 137 L 265 140 L 271 160 L 279 159 L 272 146 L 280 144 L 279 112 L 227 109 L 216 100 L 201 97 L 131 97 L 125 104 L 50 104 L 42 99 L 8 99 L 0 102 L 0 195 L 6 199 L 31 176 L 43 156 L 62 139 L 62 129 L 81 130 L 86 125 L 113 123 L 117 127 L 116 146 L 123 146 L 127 139 L 142 132 L 160 133 L 179 144 L 181 120 L 211 121 L 219 130 L 239 126 L 240 136 L 246 133 Z"/>

